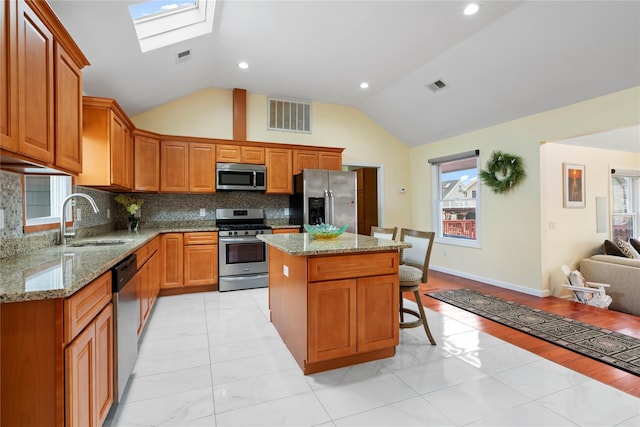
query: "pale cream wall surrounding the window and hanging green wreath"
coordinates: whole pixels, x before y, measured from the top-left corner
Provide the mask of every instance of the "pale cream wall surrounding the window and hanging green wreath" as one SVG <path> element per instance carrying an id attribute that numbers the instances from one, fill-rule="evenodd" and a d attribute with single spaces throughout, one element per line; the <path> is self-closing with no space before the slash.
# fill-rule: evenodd
<path id="1" fill-rule="evenodd" d="M 427 159 L 479 149 L 484 167 L 492 151 L 502 150 L 521 156 L 527 171 L 527 178 L 509 193 L 495 194 L 481 187 L 482 248 L 436 243 L 431 266 L 535 295 L 548 294 L 548 256 L 543 262 L 543 254 L 551 248 L 542 224 L 544 218 L 547 227 L 547 200 L 552 196 L 541 187 L 549 165 L 541 164 L 540 144 L 638 123 L 640 88 L 636 87 L 411 149 L 411 180 L 419 184 L 412 195 L 413 224 L 420 229 L 433 228 Z M 574 235 L 583 233 L 574 229 Z"/>

